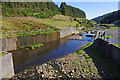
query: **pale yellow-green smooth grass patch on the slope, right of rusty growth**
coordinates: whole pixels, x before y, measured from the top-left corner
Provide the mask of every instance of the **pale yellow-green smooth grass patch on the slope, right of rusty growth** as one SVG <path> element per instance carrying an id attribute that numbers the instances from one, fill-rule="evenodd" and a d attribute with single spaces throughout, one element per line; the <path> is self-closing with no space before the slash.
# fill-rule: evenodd
<path id="1" fill-rule="evenodd" d="M 59 18 L 58 18 L 59 17 Z M 58 17 L 53 17 L 52 19 L 33 19 L 33 18 L 29 18 L 31 20 L 34 20 L 35 22 L 40 22 L 49 26 L 52 26 L 54 28 L 59 28 L 59 29 L 69 29 L 69 26 L 71 25 L 71 27 L 75 27 L 76 26 L 76 21 L 72 21 L 70 19 L 68 19 L 69 17 L 64 16 L 64 20 L 61 19 L 60 15 Z M 63 17 L 63 15 L 62 15 Z"/>

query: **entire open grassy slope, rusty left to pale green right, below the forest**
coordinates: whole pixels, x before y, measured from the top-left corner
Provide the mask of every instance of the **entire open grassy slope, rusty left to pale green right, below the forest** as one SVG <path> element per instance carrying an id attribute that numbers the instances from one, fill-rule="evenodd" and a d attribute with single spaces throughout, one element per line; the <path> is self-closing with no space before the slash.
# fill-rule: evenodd
<path id="1" fill-rule="evenodd" d="M 62 17 L 63 18 L 60 19 Z M 59 18 L 59 20 L 58 20 Z M 19 30 L 33 30 L 42 29 L 44 27 L 53 27 L 59 29 L 67 29 L 71 25 L 76 26 L 78 22 L 71 21 L 69 16 L 59 15 L 51 19 L 35 18 L 35 17 L 3 17 L 2 31 L 19 31 Z"/>

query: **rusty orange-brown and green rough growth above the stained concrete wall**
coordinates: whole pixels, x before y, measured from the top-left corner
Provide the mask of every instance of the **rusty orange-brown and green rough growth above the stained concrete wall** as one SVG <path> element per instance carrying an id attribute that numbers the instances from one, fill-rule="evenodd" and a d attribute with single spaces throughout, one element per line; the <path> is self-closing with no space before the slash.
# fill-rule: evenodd
<path id="1" fill-rule="evenodd" d="M 29 18 L 3 18 L 2 21 L 2 37 L 48 34 L 55 31 L 59 29 Z"/>

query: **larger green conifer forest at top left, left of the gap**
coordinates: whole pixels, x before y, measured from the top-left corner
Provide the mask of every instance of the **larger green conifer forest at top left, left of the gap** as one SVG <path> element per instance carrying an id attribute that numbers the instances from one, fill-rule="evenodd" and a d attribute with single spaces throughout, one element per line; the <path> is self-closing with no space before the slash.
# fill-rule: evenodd
<path id="1" fill-rule="evenodd" d="M 60 12 L 53 2 L 2 2 L 3 16 L 36 16 L 34 13 L 47 18 Z"/>

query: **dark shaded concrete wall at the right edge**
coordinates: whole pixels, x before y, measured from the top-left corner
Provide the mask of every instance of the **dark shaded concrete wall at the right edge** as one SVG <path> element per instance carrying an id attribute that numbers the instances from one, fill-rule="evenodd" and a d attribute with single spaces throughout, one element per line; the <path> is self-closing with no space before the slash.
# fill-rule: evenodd
<path id="1" fill-rule="evenodd" d="M 108 58 L 110 58 L 120 64 L 120 48 L 119 47 L 114 46 L 113 44 L 111 44 L 105 40 L 102 40 L 102 39 L 96 39 L 95 45 Z"/>

